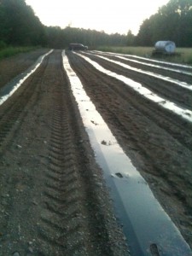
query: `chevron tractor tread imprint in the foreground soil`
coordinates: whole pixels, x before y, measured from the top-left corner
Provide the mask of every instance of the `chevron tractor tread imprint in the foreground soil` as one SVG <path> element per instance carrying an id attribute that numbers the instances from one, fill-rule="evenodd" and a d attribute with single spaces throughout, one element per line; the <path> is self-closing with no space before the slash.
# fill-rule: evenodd
<path id="1" fill-rule="evenodd" d="M 63 109 L 62 102 L 57 102 L 49 144 L 45 209 L 41 216 L 43 228 L 40 236 L 61 247 L 64 254 L 87 255 L 84 236 L 79 236 L 84 235 L 81 229 L 83 219 L 79 212 L 79 201 L 83 195 L 80 193 L 79 177 L 75 170 L 75 152 L 68 122 L 67 110 Z"/>

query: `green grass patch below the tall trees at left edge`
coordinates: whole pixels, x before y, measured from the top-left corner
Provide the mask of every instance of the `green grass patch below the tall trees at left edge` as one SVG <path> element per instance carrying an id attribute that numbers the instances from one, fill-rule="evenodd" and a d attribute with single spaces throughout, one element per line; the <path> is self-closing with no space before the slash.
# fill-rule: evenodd
<path id="1" fill-rule="evenodd" d="M 25 53 L 28 51 L 31 51 L 33 49 L 37 49 L 37 47 L 6 47 L 3 49 L 0 49 L 0 60 L 13 56 L 13 55 L 17 55 L 19 53 Z"/>

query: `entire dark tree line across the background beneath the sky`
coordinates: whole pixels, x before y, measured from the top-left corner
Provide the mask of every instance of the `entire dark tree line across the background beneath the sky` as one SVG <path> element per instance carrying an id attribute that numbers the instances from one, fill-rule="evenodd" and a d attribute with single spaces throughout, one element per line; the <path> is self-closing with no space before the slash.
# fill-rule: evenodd
<path id="1" fill-rule="evenodd" d="M 127 24 L 129 27 L 129 24 Z M 143 20 L 137 35 L 108 34 L 67 26 L 44 26 L 25 0 L 0 0 L 0 48 L 5 45 L 39 45 L 66 48 L 81 43 L 94 48 L 109 46 L 153 46 L 172 40 L 179 47 L 192 47 L 192 0 L 170 0 L 158 12 Z"/>

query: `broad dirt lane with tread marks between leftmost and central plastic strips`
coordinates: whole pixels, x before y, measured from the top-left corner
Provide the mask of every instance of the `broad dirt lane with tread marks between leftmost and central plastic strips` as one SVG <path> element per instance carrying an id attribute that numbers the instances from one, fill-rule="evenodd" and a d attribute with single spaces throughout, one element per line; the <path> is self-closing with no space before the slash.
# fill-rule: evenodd
<path id="1" fill-rule="evenodd" d="M 60 50 L 0 107 L 0 144 L 0 255 L 129 255 Z"/>

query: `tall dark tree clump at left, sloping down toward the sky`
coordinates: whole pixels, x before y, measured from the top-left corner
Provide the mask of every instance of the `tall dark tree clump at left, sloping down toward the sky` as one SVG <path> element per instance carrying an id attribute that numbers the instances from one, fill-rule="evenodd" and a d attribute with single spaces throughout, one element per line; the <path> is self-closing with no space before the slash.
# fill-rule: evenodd
<path id="1" fill-rule="evenodd" d="M 24 0 L 0 1 L 0 40 L 15 46 L 44 44 L 44 26 Z"/>

